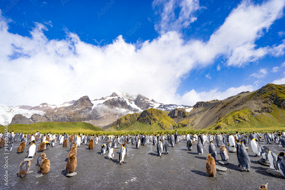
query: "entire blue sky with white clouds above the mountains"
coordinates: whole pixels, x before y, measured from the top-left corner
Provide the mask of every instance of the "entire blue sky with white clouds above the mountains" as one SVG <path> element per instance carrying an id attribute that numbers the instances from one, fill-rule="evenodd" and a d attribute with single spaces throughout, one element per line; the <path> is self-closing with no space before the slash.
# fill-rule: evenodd
<path id="1" fill-rule="evenodd" d="M 284 6 L 1 0 L 0 102 L 60 104 L 122 90 L 194 105 L 284 84 Z"/>

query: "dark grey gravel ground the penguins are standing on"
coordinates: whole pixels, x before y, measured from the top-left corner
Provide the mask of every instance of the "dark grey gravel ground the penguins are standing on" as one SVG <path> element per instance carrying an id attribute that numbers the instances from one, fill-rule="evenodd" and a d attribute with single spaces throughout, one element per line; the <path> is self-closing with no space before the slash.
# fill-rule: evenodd
<path id="1" fill-rule="evenodd" d="M 36 148 L 40 141 L 36 143 Z M 268 190 L 285 189 L 285 179 L 266 173 L 267 166 L 259 164 L 260 157 L 254 157 L 249 144 L 249 157 L 251 159 L 250 172 L 238 167 L 237 154 L 230 153 L 229 164 L 220 165 L 219 148 L 217 149 L 216 165 L 227 168 L 227 171 L 218 171 L 216 177 L 208 177 L 205 163 L 208 154 L 208 143 L 203 146 L 204 154 L 198 155 L 196 142 L 193 150 L 188 151 L 186 141 L 182 140 L 175 147 L 169 147 L 169 154 L 157 156 L 156 146 L 148 144 L 135 149 L 135 145 L 128 144 L 129 152 L 125 157 L 126 164 L 117 165 L 120 148 L 115 149 L 113 160 L 107 159 L 107 154 L 101 154 L 99 141 L 93 150 L 88 145 L 80 145 L 77 149 L 77 167 L 74 177 L 66 177 L 66 162 L 68 147 L 62 147 L 58 142 L 55 147 L 45 150 L 50 158 L 50 171 L 42 177 L 36 178 L 40 167 L 36 161 L 40 152 L 31 160 L 30 171 L 27 176 L 18 177 L 19 165 L 27 157 L 27 147 L 22 154 L 17 154 L 20 142 L 13 143 L 10 154 L 4 154 L 0 149 L 0 189 L 258 189 L 262 184 L 268 184 Z M 266 145 L 266 142 L 260 142 Z M 277 153 L 285 151 L 278 144 L 267 144 L 270 150 Z M 112 146 L 113 147 L 113 146 Z M 4 156 L 9 155 L 9 186 L 4 185 Z"/>

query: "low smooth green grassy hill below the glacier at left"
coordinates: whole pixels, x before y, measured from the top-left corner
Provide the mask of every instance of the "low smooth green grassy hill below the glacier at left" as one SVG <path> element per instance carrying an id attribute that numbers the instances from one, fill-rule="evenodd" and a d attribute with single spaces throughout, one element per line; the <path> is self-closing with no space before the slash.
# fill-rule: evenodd
<path id="1" fill-rule="evenodd" d="M 13 124 L 9 125 L 9 131 L 14 130 L 14 132 L 36 132 L 40 131 L 43 133 L 93 133 L 97 131 L 104 131 L 100 127 L 96 127 L 90 123 L 86 122 L 37 122 L 33 124 Z M 4 132 L 4 127 L 0 126 L 0 132 Z"/>

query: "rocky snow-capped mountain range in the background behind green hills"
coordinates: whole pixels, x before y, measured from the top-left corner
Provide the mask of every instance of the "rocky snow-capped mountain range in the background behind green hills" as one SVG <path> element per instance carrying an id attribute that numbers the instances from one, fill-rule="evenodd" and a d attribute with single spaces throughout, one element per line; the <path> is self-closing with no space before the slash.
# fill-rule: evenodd
<path id="1" fill-rule="evenodd" d="M 132 96 L 125 92 L 114 92 L 110 96 L 95 99 L 93 101 L 91 101 L 88 96 L 84 96 L 76 101 L 65 102 L 62 105 L 42 103 L 32 107 L 30 110 L 3 105 L 3 109 L 0 107 L 0 110 L 3 117 L 6 119 L 0 120 L 0 124 L 5 121 L 8 121 L 10 124 L 30 124 L 40 121 L 85 121 L 92 123 L 95 126 L 103 127 L 129 113 L 140 113 L 150 108 L 171 111 L 175 108 L 188 107 L 190 106 L 175 104 L 164 105 L 153 99 L 150 100 L 141 94 Z M 23 108 L 23 106 L 21 106 L 21 108 Z M 36 115 L 32 117 L 33 114 Z"/>

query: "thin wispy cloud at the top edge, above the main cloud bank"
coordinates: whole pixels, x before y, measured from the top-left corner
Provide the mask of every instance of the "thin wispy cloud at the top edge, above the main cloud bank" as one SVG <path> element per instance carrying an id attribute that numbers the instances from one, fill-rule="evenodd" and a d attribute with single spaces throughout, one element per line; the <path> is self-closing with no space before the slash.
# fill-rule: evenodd
<path id="1" fill-rule="evenodd" d="M 160 15 L 155 24 L 155 29 L 160 34 L 168 31 L 180 31 L 188 28 L 190 23 L 197 20 L 195 12 L 200 9 L 199 0 L 154 0 L 152 6 L 156 15 Z M 180 8 L 179 15 L 175 15 L 174 10 Z"/>

